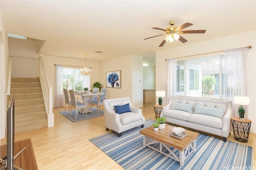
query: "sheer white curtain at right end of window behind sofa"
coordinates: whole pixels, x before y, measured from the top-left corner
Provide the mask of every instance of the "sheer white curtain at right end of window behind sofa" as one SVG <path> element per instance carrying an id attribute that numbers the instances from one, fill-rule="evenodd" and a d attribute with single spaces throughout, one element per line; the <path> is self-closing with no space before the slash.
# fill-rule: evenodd
<path id="1" fill-rule="evenodd" d="M 245 47 L 224 51 L 222 57 L 223 99 L 234 101 L 234 95 L 247 95 Z M 238 105 L 233 103 L 233 117 L 238 115 Z"/>

